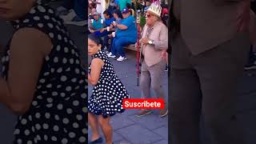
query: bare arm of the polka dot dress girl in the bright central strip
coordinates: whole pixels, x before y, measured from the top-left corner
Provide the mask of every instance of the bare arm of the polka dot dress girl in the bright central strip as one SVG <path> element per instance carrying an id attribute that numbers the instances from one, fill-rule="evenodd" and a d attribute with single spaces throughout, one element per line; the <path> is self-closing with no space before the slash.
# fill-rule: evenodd
<path id="1" fill-rule="evenodd" d="M 104 66 L 104 62 L 102 61 L 102 59 L 94 58 L 92 60 L 91 66 L 90 66 L 90 73 L 88 74 L 88 81 L 90 82 L 91 85 L 93 86 L 97 85 L 103 66 Z"/>

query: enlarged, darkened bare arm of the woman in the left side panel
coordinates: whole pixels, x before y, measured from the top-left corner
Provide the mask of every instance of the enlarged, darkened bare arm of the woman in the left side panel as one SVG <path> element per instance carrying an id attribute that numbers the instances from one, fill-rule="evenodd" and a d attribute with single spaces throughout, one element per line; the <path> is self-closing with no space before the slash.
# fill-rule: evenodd
<path id="1" fill-rule="evenodd" d="M 39 30 L 23 28 L 14 34 L 8 78 L 0 78 L 0 102 L 15 114 L 29 110 L 42 63 L 50 49 L 50 38 Z"/>

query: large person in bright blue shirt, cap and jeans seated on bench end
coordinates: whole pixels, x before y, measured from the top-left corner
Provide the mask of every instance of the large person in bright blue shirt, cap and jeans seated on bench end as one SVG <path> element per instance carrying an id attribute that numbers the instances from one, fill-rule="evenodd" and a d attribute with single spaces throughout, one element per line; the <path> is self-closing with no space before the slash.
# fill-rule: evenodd
<path id="1" fill-rule="evenodd" d="M 137 26 L 136 20 L 130 15 L 130 10 L 125 8 L 122 10 L 122 21 L 120 24 L 113 23 L 117 27 L 116 37 L 113 40 L 111 52 L 108 54 L 109 57 L 115 58 L 116 53 L 120 55 L 118 61 L 126 59 L 123 46 L 134 44 L 137 41 Z"/>

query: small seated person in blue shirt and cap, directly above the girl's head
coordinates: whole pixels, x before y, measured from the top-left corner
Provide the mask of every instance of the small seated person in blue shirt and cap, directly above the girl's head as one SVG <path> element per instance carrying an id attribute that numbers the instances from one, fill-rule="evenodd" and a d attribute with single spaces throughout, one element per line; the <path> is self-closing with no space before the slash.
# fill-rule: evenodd
<path id="1" fill-rule="evenodd" d="M 99 17 L 98 12 L 94 12 L 94 22 L 90 26 L 90 33 L 100 36 L 100 30 L 102 30 L 102 18 Z"/>

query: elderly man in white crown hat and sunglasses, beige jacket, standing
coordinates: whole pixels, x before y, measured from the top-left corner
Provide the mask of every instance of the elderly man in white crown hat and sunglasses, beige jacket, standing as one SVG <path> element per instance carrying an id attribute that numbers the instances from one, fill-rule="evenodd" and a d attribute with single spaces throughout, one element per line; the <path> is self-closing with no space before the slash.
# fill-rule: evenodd
<path id="1" fill-rule="evenodd" d="M 165 99 L 162 90 L 162 76 L 166 68 L 163 55 L 168 47 L 168 30 L 161 21 L 162 7 L 153 3 L 146 13 L 146 26 L 142 31 L 142 97 L 150 97 L 150 86 L 158 98 Z M 151 110 L 141 110 L 137 116 L 150 114 Z M 168 110 L 160 110 L 160 117 L 166 116 Z"/>

